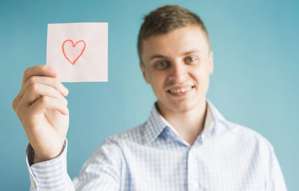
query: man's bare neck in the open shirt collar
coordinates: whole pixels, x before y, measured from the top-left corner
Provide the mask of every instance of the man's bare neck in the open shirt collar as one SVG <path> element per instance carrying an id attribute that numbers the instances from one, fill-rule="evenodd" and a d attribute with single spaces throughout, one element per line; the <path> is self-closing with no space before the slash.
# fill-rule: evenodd
<path id="1" fill-rule="evenodd" d="M 203 99 L 195 108 L 185 112 L 172 111 L 162 106 L 159 101 L 157 101 L 157 104 L 161 115 L 179 133 L 179 136 L 190 145 L 193 145 L 204 128 L 207 110 L 206 99 Z"/>

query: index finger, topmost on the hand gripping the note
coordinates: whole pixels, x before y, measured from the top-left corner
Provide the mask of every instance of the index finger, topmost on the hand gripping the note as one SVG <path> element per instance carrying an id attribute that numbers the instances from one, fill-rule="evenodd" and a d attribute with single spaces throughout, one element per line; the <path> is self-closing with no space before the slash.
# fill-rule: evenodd
<path id="1" fill-rule="evenodd" d="M 27 82 L 32 76 L 47 76 L 51 78 L 57 77 L 57 72 L 47 65 L 38 65 L 31 68 L 27 68 L 23 75 L 22 86 Z"/>

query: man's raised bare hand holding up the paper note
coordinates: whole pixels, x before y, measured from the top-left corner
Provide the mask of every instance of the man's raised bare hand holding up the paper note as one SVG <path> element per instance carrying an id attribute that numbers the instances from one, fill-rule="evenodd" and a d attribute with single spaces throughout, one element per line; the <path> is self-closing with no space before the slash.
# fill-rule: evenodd
<path id="1" fill-rule="evenodd" d="M 69 127 L 68 90 L 47 65 L 27 68 L 22 87 L 12 101 L 29 143 L 34 163 L 56 158 L 63 151 Z"/>

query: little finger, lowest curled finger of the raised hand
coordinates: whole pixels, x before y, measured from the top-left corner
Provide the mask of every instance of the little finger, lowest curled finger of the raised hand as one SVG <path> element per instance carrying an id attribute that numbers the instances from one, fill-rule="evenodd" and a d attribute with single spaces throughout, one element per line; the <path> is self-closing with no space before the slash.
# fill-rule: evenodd
<path id="1" fill-rule="evenodd" d="M 28 107 L 27 111 L 30 115 L 38 115 L 44 113 L 46 109 L 57 109 L 63 115 L 69 113 L 67 106 L 61 100 L 49 96 L 40 97 Z"/>

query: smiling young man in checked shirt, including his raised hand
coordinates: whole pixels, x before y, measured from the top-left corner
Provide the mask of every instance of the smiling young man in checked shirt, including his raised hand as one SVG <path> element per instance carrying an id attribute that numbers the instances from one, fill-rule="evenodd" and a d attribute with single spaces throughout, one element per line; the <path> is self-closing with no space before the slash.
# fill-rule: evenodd
<path id="1" fill-rule="evenodd" d="M 12 106 L 30 143 L 32 191 L 287 191 L 271 143 L 226 120 L 206 99 L 213 53 L 196 14 L 170 5 L 150 12 L 138 51 L 157 97 L 149 118 L 108 137 L 73 181 L 66 166 L 68 92 L 48 66 L 25 71 Z"/>

